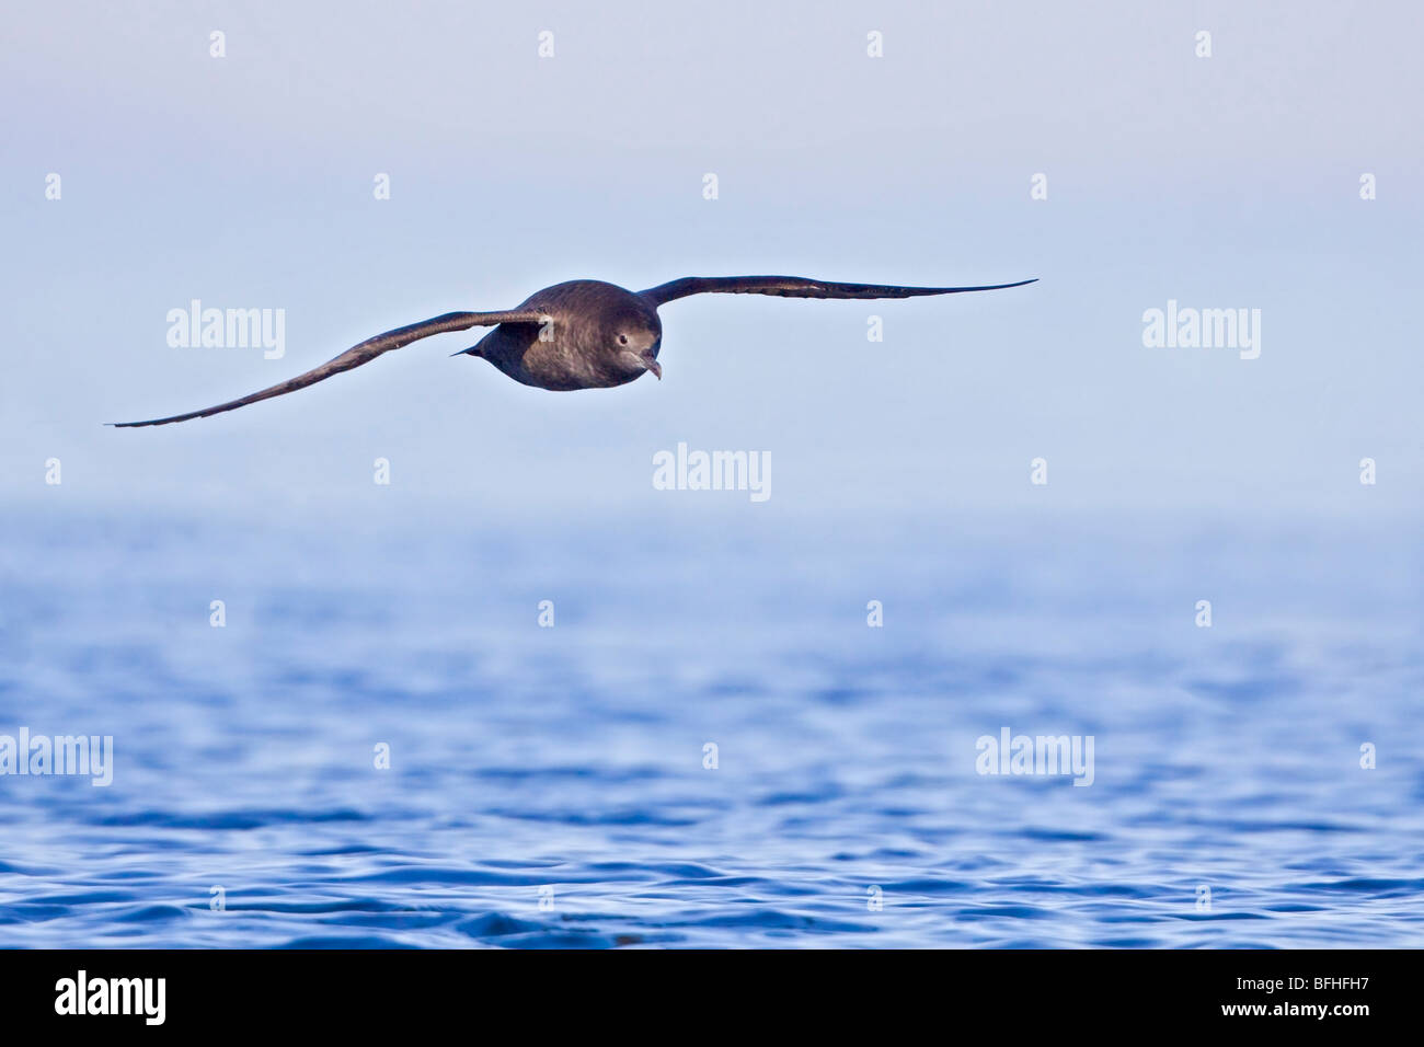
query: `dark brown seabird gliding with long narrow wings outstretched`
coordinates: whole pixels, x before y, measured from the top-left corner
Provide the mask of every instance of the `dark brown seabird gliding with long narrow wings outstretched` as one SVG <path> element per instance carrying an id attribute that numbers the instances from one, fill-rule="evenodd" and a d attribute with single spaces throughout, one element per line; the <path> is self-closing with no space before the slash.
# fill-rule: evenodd
<path id="1" fill-rule="evenodd" d="M 1037 278 L 1035 278 L 1037 279 Z M 494 328 L 478 345 L 456 356 L 478 356 L 515 382 L 540 389 L 607 389 L 632 382 L 644 372 L 662 377 L 658 349 L 662 322 L 658 308 L 689 295 L 779 295 L 780 298 L 920 298 L 965 291 L 1021 288 L 1035 281 L 978 288 L 901 288 L 889 283 L 830 283 L 802 276 L 684 276 L 646 291 L 627 291 L 602 281 L 568 281 L 537 291 L 514 309 L 447 312 L 387 330 L 355 345 L 305 375 L 215 407 L 148 422 L 115 422 L 120 429 L 167 426 L 236 410 L 258 400 L 296 392 L 332 375 L 369 363 L 384 352 L 431 335 L 467 328 Z"/>

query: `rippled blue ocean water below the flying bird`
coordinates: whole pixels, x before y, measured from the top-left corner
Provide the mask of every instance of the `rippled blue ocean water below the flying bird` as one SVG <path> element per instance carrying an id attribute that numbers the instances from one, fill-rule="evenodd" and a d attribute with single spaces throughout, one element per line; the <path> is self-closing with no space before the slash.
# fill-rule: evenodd
<path id="1" fill-rule="evenodd" d="M 7 510 L 0 944 L 1424 944 L 1408 528 L 758 509 Z"/>

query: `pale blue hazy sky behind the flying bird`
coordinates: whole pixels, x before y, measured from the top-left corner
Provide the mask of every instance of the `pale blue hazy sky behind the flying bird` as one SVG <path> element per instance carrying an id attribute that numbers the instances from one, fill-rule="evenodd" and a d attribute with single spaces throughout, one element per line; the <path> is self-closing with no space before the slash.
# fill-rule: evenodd
<path id="1" fill-rule="evenodd" d="M 7 13 L 0 497 L 360 504 L 383 456 L 412 504 L 638 511 L 669 497 L 651 457 L 684 440 L 770 452 L 772 500 L 746 511 L 1047 497 L 1418 519 L 1420 20 L 1408 3 Z M 1361 172 L 1378 199 L 1358 199 Z M 100 426 L 562 279 L 739 272 L 1041 282 L 686 299 L 662 311 L 662 383 L 525 389 L 447 359 L 474 340 L 447 335 L 215 419 Z M 192 298 L 285 309 L 285 359 L 168 348 L 165 315 Z M 1260 359 L 1145 349 L 1142 312 L 1169 298 L 1259 308 Z"/>

